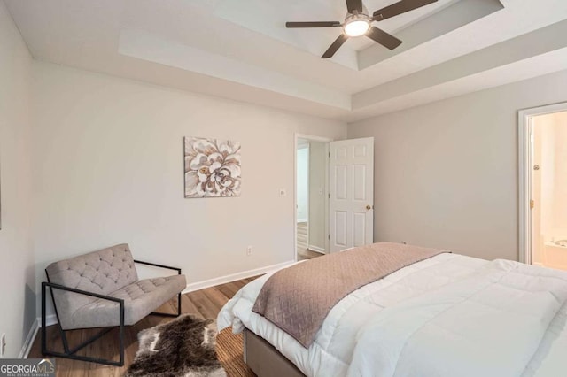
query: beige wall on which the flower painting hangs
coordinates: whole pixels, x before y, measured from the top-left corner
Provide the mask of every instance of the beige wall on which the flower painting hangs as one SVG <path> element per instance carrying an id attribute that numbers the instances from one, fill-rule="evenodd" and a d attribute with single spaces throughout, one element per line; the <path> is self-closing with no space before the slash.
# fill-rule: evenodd
<path id="1" fill-rule="evenodd" d="M 346 136 L 337 121 L 58 65 L 35 62 L 34 77 L 40 281 L 50 262 L 118 242 L 189 283 L 291 261 L 294 134 Z M 183 136 L 242 143 L 242 196 L 183 197 Z"/>

